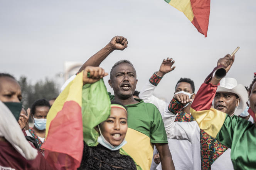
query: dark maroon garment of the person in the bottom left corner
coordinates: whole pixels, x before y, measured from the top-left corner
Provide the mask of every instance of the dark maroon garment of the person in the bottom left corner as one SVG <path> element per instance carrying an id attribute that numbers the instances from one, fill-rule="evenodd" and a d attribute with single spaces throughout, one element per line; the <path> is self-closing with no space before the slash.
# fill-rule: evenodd
<path id="1" fill-rule="evenodd" d="M 41 153 L 38 152 L 34 160 L 27 160 L 9 142 L 0 141 L 0 169 L 4 170 L 8 167 L 17 170 L 53 169 Z"/>

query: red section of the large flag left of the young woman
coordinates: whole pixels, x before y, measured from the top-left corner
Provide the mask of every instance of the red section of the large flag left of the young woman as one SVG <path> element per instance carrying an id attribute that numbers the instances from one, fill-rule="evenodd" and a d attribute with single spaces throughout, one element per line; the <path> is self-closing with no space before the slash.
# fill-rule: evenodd
<path id="1" fill-rule="evenodd" d="M 51 121 L 47 138 L 42 145 L 45 158 L 57 169 L 76 169 L 83 156 L 83 122 L 81 107 L 67 101 Z"/>

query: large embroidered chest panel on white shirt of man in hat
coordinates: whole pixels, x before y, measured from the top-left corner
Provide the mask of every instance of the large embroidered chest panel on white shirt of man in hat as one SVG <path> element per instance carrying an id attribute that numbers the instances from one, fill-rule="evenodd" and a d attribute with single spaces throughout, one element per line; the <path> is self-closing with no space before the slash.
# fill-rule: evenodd
<path id="1" fill-rule="evenodd" d="M 211 170 L 212 163 L 228 148 L 200 129 L 202 170 Z"/>

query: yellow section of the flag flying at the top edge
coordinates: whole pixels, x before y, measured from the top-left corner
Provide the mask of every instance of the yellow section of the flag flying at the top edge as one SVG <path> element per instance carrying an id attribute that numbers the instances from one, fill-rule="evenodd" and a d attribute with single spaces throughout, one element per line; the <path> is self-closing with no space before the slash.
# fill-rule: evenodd
<path id="1" fill-rule="evenodd" d="M 171 0 L 169 4 L 180 12 L 183 12 L 186 17 L 192 22 L 195 15 L 193 13 L 190 0 Z"/>

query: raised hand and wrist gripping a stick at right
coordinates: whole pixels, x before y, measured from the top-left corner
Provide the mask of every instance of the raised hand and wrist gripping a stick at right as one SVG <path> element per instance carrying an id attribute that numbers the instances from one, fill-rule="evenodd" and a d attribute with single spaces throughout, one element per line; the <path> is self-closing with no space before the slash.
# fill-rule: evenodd
<path id="1" fill-rule="evenodd" d="M 230 54 L 227 54 L 225 57 L 220 58 L 217 62 L 217 66 L 222 65 L 224 66 L 226 73 L 231 68 L 232 64 L 234 63 L 235 56 L 231 56 Z M 212 85 L 217 85 L 221 81 L 221 78 L 218 78 L 216 75 L 212 77 L 211 83 Z"/>

